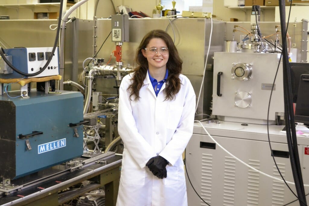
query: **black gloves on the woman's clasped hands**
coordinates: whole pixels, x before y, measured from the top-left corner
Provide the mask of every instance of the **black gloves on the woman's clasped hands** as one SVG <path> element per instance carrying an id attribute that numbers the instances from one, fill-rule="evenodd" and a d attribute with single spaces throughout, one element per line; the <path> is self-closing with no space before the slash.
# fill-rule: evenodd
<path id="1" fill-rule="evenodd" d="M 168 162 L 161 156 L 156 156 L 150 158 L 150 160 L 146 163 L 149 170 L 159 179 L 163 179 L 167 177 L 166 166 Z"/>

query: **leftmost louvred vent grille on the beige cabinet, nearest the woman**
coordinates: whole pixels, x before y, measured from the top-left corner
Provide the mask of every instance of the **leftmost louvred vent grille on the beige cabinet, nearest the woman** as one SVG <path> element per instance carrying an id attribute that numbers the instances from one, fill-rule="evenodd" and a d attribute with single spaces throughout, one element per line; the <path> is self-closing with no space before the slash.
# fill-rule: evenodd
<path id="1" fill-rule="evenodd" d="M 211 180 L 213 167 L 212 154 L 202 153 L 201 165 L 201 198 L 208 204 L 211 204 Z M 207 205 L 201 200 L 201 205 Z"/>

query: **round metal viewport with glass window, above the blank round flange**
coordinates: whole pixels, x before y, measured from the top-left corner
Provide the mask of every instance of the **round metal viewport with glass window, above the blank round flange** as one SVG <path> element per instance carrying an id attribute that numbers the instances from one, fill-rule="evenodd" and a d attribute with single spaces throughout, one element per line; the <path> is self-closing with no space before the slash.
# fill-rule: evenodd
<path id="1" fill-rule="evenodd" d="M 234 63 L 231 73 L 232 79 L 247 81 L 251 79 L 252 67 L 246 63 Z"/>

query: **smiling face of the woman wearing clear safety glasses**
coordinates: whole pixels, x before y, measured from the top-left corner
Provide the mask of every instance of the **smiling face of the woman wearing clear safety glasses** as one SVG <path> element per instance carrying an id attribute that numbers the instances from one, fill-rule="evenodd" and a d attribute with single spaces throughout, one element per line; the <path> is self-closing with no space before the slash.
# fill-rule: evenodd
<path id="1" fill-rule="evenodd" d="M 158 52 L 156 54 L 151 53 L 149 49 L 151 47 L 157 48 Z M 161 48 L 167 48 L 166 43 L 161 38 L 153 38 L 149 41 L 149 43 L 146 46 L 146 50 L 142 49 L 142 53 L 144 57 L 147 58 L 148 61 L 148 68 L 150 71 L 152 70 L 162 70 L 162 72 L 166 70 L 166 64 L 168 61 L 169 53 L 162 55 L 160 53 Z"/>

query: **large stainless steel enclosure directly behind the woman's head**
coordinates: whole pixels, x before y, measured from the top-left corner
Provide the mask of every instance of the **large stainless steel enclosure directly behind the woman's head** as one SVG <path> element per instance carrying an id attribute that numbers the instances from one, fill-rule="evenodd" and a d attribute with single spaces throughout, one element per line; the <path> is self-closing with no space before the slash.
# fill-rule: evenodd
<path id="1" fill-rule="evenodd" d="M 183 60 L 182 73 L 186 75 L 198 96 L 206 53 L 210 36 L 210 19 L 184 19 L 179 18 L 172 21 L 175 30 L 175 44 L 177 50 Z M 97 45 L 102 44 L 110 33 L 111 20 L 97 19 Z M 123 66 L 133 65 L 136 48 L 140 44 L 142 38 L 153 29 L 166 30 L 174 39 L 173 30 L 169 25 L 168 19 L 129 19 L 129 42 L 124 42 L 122 46 Z M 198 113 L 210 114 L 210 102 L 212 95 L 212 56 L 215 51 L 223 51 L 224 48 L 225 22 L 213 20 L 213 35 L 210 45 L 209 58 L 206 67 L 204 87 L 202 89 L 200 104 L 198 105 Z M 109 59 L 110 54 L 114 50 L 114 43 L 111 37 L 105 42 L 103 48 L 98 54 L 98 58 Z M 112 57 L 111 63 L 115 62 Z M 106 91 L 108 86 L 115 85 L 115 80 L 104 79 L 97 81 L 97 90 Z M 108 90 L 109 94 L 115 94 L 116 90 Z"/>

